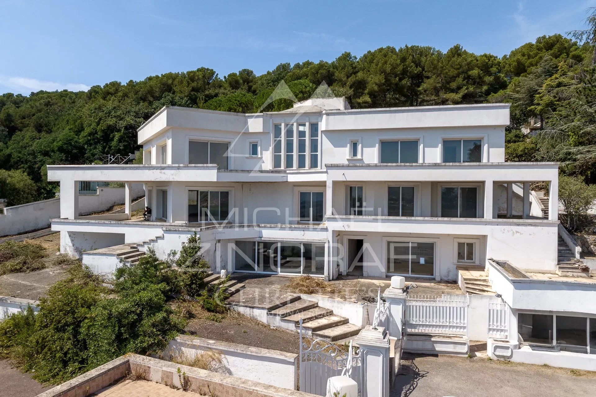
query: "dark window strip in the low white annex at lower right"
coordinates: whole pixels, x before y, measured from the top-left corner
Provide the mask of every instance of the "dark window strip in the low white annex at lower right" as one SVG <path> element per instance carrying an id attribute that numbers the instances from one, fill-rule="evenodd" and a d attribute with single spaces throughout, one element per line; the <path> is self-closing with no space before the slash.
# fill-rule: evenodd
<path id="1" fill-rule="evenodd" d="M 517 332 L 520 342 L 529 345 L 596 354 L 596 317 L 518 313 Z"/>

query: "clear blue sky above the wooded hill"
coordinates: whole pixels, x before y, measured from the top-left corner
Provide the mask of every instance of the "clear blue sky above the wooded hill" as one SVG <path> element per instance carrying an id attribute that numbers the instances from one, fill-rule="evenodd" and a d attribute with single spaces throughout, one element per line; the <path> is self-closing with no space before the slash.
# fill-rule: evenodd
<path id="1" fill-rule="evenodd" d="M 583 27 L 596 0 L 0 0 L 0 93 L 88 89 L 204 66 L 220 76 L 392 45 L 507 54 Z M 336 5 L 337 4 L 337 5 Z"/>

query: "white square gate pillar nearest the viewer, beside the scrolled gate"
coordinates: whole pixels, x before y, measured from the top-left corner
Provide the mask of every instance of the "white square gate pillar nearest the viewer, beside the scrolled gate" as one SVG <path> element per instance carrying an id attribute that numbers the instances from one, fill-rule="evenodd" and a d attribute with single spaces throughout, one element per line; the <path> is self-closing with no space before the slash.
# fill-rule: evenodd
<path id="1" fill-rule="evenodd" d="M 366 326 L 355 343 L 362 360 L 362 397 L 389 397 L 389 333 Z"/>

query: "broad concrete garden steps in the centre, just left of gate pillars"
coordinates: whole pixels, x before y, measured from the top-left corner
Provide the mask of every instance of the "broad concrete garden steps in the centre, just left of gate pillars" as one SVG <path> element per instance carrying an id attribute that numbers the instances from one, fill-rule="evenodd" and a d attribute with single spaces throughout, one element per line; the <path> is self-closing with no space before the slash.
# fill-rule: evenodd
<path id="1" fill-rule="evenodd" d="M 287 330 L 302 328 L 307 336 L 336 342 L 358 335 L 361 327 L 350 324 L 347 317 L 333 313 L 333 310 L 319 307 L 318 302 L 302 299 L 300 296 L 290 299 L 277 307 L 269 308 L 267 323 L 273 327 Z"/>

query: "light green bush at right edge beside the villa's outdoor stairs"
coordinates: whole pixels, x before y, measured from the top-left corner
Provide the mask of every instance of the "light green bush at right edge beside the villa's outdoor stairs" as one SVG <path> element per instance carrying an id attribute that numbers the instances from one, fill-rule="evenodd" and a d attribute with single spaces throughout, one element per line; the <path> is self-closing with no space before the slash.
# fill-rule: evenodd
<path id="1" fill-rule="evenodd" d="M 594 207 L 596 185 L 586 185 L 582 179 L 570 176 L 560 176 L 558 182 L 558 199 L 567 214 L 567 227 L 575 230 L 579 217 Z"/>

